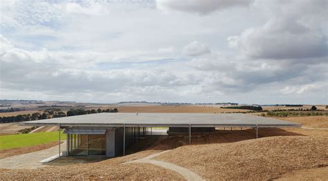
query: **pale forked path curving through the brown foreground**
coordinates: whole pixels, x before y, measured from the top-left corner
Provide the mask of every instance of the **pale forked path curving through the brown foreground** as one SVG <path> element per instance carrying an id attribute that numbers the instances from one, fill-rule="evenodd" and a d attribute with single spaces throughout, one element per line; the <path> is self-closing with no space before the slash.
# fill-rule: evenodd
<path id="1" fill-rule="evenodd" d="M 167 150 L 170 151 L 170 150 Z M 190 171 L 189 169 L 186 169 L 182 166 L 178 166 L 176 164 L 172 164 L 170 162 L 164 162 L 164 161 L 159 161 L 159 160 L 152 160 L 152 158 L 155 158 L 158 155 L 161 155 L 163 153 L 166 153 L 167 151 L 162 151 L 160 153 L 155 153 L 152 155 L 149 155 L 145 158 L 141 158 L 138 160 L 132 160 L 129 162 L 125 162 L 123 164 L 129 164 L 129 163 L 148 163 L 148 164 L 154 164 L 156 166 L 161 166 L 165 169 L 169 169 L 172 171 L 175 171 L 176 173 L 179 173 L 180 175 L 182 175 L 186 180 L 203 180 L 203 178 L 201 178 L 201 176 L 197 175 L 196 173 Z"/>

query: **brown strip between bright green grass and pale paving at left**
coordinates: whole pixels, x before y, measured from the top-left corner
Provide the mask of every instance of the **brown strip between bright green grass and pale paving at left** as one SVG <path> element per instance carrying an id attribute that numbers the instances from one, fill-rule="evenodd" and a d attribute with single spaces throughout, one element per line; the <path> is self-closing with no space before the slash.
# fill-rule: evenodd
<path id="1" fill-rule="evenodd" d="M 0 150 L 0 159 L 11 157 L 13 155 L 22 155 L 25 153 L 31 153 L 34 151 L 49 149 L 56 145 L 58 145 L 57 141 L 46 143 L 46 144 L 38 144 L 35 146 L 26 146 L 26 147 L 21 147 L 21 148 L 14 148 L 14 149 L 2 149 L 2 150 Z"/>

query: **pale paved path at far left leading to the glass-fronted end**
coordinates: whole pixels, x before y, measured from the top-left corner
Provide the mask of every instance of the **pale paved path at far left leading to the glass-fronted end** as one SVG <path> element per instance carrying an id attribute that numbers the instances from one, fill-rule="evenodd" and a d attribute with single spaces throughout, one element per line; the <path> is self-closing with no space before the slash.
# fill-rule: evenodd
<path id="1" fill-rule="evenodd" d="M 60 145 L 61 151 L 66 151 L 66 141 Z M 15 155 L 0 160 L 0 169 L 37 169 L 46 165 L 39 163 L 53 155 L 58 155 L 58 146 L 50 149 L 26 153 L 23 155 Z"/>

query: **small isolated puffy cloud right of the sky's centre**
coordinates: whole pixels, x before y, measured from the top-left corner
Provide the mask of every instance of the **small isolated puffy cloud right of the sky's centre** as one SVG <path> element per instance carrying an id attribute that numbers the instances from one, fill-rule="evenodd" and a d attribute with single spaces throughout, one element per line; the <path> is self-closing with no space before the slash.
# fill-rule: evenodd
<path id="1" fill-rule="evenodd" d="M 210 48 L 205 44 L 201 44 L 198 41 L 193 41 L 191 44 L 183 47 L 183 54 L 190 56 L 198 56 L 210 53 Z"/>

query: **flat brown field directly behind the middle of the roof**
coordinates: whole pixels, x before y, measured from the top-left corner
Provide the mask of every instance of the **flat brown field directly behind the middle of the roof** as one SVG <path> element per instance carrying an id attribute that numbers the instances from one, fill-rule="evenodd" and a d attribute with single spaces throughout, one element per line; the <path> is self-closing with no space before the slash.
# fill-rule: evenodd
<path id="1" fill-rule="evenodd" d="M 104 108 L 118 108 L 120 113 L 226 113 L 246 112 L 249 110 L 219 108 L 218 106 L 112 106 Z"/>

